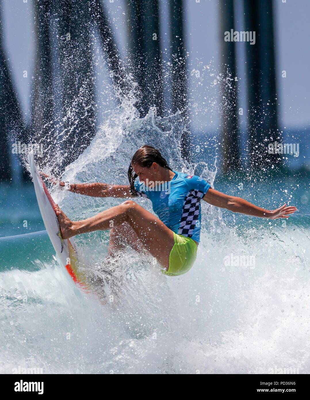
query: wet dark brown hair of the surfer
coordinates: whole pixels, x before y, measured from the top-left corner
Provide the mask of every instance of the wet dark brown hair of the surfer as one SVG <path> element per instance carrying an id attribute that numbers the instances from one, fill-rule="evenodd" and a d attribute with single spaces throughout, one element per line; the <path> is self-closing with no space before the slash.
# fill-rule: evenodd
<path id="1" fill-rule="evenodd" d="M 130 191 L 131 196 L 137 196 L 137 191 L 135 190 L 135 179 L 138 176 L 137 174 L 135 174 L 133 172 L 132 165 L 138 164 L 141 167 L 150 168 L 150 166 L 153 164 L 153 162 L 156 162 L 158 165 L 160 165 L 163 168 L 168 168 L 169 170 L 171 170 L 167 161 L 161 155 L 160 151 L 155 149 L 152 146 L 148 146 L 147 144 L 145 144 L 142 147 L 140 147 L 135 152 L 135 154 L 133 154 L 133 157 L 131 158 L 131 162 L 130 162 L 130 165 L 128 168 L 128 179 L 129 179 L 129 185 L 130 185 L 129 191 Z"/>

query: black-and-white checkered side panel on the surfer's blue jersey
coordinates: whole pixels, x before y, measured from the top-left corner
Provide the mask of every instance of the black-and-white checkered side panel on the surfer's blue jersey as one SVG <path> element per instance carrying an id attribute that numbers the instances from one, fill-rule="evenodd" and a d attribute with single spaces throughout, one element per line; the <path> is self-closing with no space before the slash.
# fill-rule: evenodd
<path id="1" fill-rule="evenodd" d="M 199 190 L 191 189 L 184 200 L 183 213 L 178 234 L 191 238 L 199 217 L 200 200 L 205 196 L 205 193 Z"/>

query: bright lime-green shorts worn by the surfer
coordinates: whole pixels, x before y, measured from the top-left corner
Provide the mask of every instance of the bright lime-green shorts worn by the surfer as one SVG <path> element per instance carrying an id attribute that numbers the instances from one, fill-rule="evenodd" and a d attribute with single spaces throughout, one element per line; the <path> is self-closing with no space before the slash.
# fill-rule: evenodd
<path id="1" fill-rule="evenodd" d="M 197 244 L 191 238 L 173 232 L 175 244 L 170 252 L 169 269 L 165 275 L 177 276 L 189 271 L 197 257 Z"/>

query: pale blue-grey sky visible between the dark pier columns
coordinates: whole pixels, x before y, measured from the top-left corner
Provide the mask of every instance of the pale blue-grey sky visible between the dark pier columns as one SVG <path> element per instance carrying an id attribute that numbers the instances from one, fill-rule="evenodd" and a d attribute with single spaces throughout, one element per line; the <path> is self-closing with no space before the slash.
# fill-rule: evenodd
<path id="1" fill-rule="evenodd" d="M 3 23 L 6 55 L 16 90 L 20 96 L 22 110 L 26 118 L 30 112 L 31 76 L 34 68 L 34 0 L 0 0 L 3 5 Z M 25 2 L 26 1 L 26 2 Z M 197 2 L 199 1 L 199 2 Z M 250 0 L 249 0 L 250 1 Z M 310 51 L 308 43 L 310 2 L 309 0 L 273 0 L 274 31 L 276 36 L 276 76 L 279 98 L 280 126 L 305 128 L 309 126 L 308 78 Z M 167 0 L 159 0 L 161 48 L 169 48 L 169 14 Z M 221 72 L 219 40 L 218 0 L 185 0 L 185 40 L 189 52 L 189 71 L 211 65 L 215 73 Z M 111 18 L 120 54 L 125 56 L 127 48 L 126 8 L 123 0 L 104 1 Z M 242 30 L 242 0 L 235 1 L 236 16 L 234 30 Z M 240 83 L 239 101 L 246 106 L 244 43 L 237 43 L 238 79 Z M 243 46 L 243 47 L 242 47 Z M 167 56 L 164 55 L 164 58 Z M 28 71 L 28 78 L 23 71 Z M 286 70 L 286 78 L 282 71 Z M 101 73 L 101 81 L 105 72 Z M 206 87 L 208 86 L 208 88 Z M 212 86 L 212 85 L 211 85 Z M 195 75 L 189 74 L 189 89 L 194 101 L 216 98 L 217 88 L 208 80 L 199 84 Z M 100 92 L 98 85 L 97 90 Z M 219 126 L 219 112 L 201 113 L 192 116 L 193 130 L 214 130 Z M 242 122 L 242 121 L 241 121 Z"/>

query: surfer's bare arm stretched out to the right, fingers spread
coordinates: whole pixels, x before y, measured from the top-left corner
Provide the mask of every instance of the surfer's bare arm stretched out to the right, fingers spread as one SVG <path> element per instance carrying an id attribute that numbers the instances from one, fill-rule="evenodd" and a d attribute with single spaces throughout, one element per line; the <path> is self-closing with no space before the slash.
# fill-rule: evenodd
<path id="1" fill-rule="evenodd" d="M 227 210 L 233 212 L 239 212 L 254 217 L 269 218 L 271 220 L 288 218 L 290 214 L 293 214 L 297 210 L 296 207 L 286 206 L 286 204 L 276 210 L 265 210 L 240 197 L 228 196 L 227 194 L 211 188 L 207 191 L 203 200 L 212 206 L 227 208 Z"/>

